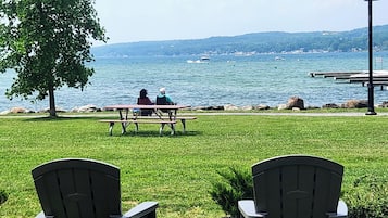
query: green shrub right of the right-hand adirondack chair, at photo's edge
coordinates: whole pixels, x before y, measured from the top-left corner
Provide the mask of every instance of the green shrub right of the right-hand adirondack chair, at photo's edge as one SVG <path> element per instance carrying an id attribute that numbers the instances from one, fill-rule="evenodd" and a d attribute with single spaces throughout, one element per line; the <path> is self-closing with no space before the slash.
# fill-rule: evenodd
<path id="1" fill-rule="evenodd" d="M 388 217 L 388 178 L 367 175 L 356 179 L 346 193 L 349 218 Z"/>

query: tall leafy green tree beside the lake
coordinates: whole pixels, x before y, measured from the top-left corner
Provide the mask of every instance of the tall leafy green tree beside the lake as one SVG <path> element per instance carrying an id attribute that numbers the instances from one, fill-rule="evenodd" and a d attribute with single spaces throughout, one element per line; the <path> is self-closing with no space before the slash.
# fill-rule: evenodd
<path id="1" fill-rule="evenodd" d="M 5 94 L 43 100 L 57 116 L 54 91 L 88 84 L 92 39 L 107 41 L 95 0 L 1 0 L 0 72 L 16 77 Z"/>

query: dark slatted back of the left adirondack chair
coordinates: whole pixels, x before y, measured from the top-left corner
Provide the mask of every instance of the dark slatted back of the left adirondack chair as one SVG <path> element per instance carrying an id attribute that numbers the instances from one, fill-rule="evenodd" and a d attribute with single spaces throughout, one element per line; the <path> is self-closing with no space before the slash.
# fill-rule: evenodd
<path id="1" fill-rule="evenodd" d="M 117 167 L 90 159 L 59 159 L 32 172 L 46 216 L 121 217 Z"/>

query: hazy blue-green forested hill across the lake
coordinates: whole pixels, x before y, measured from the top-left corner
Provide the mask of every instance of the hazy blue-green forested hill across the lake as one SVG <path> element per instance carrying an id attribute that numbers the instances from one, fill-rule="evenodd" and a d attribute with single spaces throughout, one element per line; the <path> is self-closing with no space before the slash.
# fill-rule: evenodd
<path id="1" fill-rule="evenodd" d="M 256 33 L 195 40 L 143 41 L 92 48 L 95 56 L 254 54 L 367 50 L 368 29 L 351 31 Z M 373 29 L 375 50 L 388 50 L 388 25 Z"/>

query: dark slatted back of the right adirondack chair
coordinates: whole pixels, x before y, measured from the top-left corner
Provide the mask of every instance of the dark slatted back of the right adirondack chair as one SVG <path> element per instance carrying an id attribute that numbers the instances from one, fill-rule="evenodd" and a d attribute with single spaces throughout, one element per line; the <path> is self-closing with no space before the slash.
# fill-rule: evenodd
<path id="1" fill-rule="evenodd" d="M 252 166 L 256 211 L 267 218 L 327 218 L 339 200 L 343 167 L 313 156 L 283 156 Z"/>

